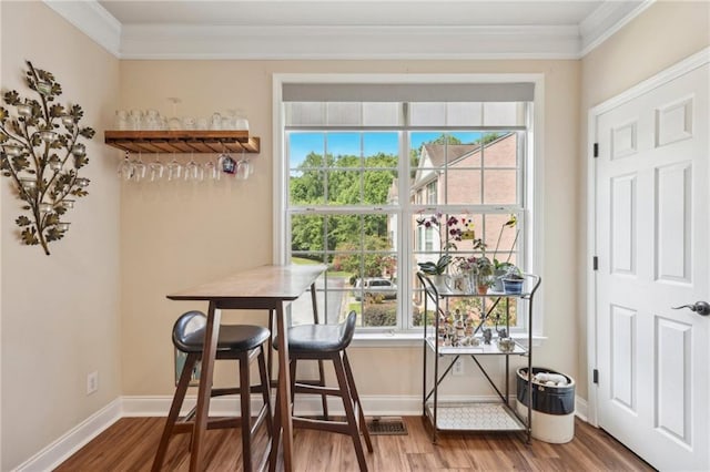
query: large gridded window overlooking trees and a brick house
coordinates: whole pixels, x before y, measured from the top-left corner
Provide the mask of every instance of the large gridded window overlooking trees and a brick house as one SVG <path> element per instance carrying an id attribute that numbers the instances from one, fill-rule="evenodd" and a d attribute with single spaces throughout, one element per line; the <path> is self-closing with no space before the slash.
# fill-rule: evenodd
<path id="1" fill-rule="evenodd" d="M 444 252 L 458 261 L 485 250 L 530 269 L 529 100 L 316 100 L 337 91 L 308 90 L 315 98 L 303 100 L 284 84 L 288 98 L 280 103 L 283 260 L 328 266 L 317 285 L 326 322 L 355 310 L 359 331 L 419 329 L 417 263 Z M 515 226 L 506 224 L 511 216 Z M 425 225 L 432 218 L 437 224 Z M 476 317 L 489 307 L 452 300 L 449 308 Z M 515 306 L 510 312 L 524 329 Z M 311 322 L 304 314 L 293 312 L 292 322 Z"/>

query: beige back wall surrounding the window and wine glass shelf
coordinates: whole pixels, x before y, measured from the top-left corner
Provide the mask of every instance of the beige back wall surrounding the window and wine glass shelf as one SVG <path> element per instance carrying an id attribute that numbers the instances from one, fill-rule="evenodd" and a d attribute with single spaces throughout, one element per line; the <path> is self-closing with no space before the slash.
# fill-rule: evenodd
<path id="1" fill-rule="evenodd" d="M 205 310 L 206 305 L 170 301 L 165 294 L 272 261 L 272 75 L 298 72 L 545 74 L 545 152 L 539 156 L 545 182 L 537 191 L 545 199 L 546 306 L 538 309 L 549 339 L 535 362 L 575 376 L 577 318 L 569 308 L 577 306 L 577 284 L 569 261 L 578 253 L 570 235 L 577 233 L 579 61 L 121 61 L 121 107 L 170 113 L 169 96 L 182 99 L 183 115 L 240 107 L 262 140 L 247 182 L 123 188 L 123 393 L 168 396 L 174 390 L 172 324 L 182 311 Z M 420 348 L 353 349 L 358 389 L 364 396 L 419 396 L 420 356 Z M 378 369 L 368 368 L 373 362 Z"/>

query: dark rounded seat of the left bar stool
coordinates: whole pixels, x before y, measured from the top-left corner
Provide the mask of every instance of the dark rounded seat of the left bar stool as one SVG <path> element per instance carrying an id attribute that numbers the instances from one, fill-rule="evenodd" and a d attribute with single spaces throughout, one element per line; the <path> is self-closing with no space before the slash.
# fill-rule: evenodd
<path id="1" fill-rule="evenodd" d="M 175 321 L 173 343 L 182 352 L 202 352 L 206 317 L 200 311 L 187 311 Z M 220 351 L 247 351 L 268 339 L 268 329 L 252 325 L 222 325 L 217 339 Z"/>

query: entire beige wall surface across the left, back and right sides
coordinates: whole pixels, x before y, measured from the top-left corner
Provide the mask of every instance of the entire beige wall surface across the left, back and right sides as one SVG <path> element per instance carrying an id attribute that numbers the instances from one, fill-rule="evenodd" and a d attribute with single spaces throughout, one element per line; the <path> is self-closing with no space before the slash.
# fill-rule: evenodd
<path id="1" fill-rule="evenodd" d="M 539 309 L 548 339 L 536 350 L 535 363 L 572 374 L 586 397 L 586 281 L 575 269 L 586 260 L 586 113 L 708 45 L 709 8 L 706 2 L 656 3 L 582 61 L 119 63 L 43 4 L 2 2 L 3 88 L 23 89 L 20 72 L 23 60 L 31 59 L 55 73 L 64 98 L 84 106 L 85 122 L 98 135 L 88 146 L 91 195 L 71 213 L 72 230 L 52 245 L 52 256 L 18 244 L 17 199 L 7 181 L 0 191 L 1 468 L 27 460 L 119 394 L 172 394 L 172 322 L 184 310 L 206 307 L 169 301 L 165 294 L 271 263 L 274 73 L 545 74 L 539 156 L 545 181 L 537 191 L 545 205 L 545 305 Z M 113 171 L 120 153 L 101 144 L 103 129 L 112 126 L 119 107 L 171 114 L 169 96 L 182 99 L 181 115 L 246 111 L 253 134 L 262 138 L 253 177 L 199 187 L 124 187 L 119 202 Z M 353 349 L 362 393 L 418 396 L 420 356 L 419 348 Z M 374 361 L 376 370 L 369 368 Z M 92 370 L 101 372 L 101 390 L 87 397 L 85 376 Z M 455 383 L 456 392 L 466 389 Z"/>

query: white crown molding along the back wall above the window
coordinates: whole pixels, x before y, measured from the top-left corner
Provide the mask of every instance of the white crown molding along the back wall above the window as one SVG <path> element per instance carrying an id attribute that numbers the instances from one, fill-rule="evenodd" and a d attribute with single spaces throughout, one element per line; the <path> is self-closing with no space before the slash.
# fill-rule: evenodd
<path id="1" fill-rule="evenodd" d="M 121 59 L 576 59 L 576 27 L 125 25 Z"/>

